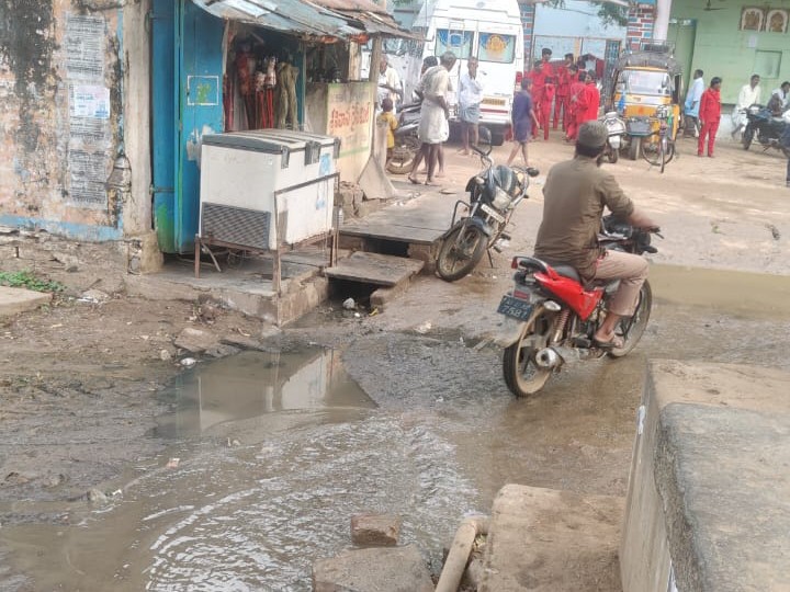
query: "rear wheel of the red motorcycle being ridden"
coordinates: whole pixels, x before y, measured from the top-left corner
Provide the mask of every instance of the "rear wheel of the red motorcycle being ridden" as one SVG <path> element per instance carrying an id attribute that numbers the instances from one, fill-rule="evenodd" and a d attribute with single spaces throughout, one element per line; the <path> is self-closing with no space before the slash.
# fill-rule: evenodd
<path id="1" fill-rule="evenodd" d="M 552 369 L 538 366 L 534 357 L 549 345 L 553 321 L 554 314 L 539 307 L 524 325 L 518 341 L 505 350 L 503 376 L 510 392 L 517 397 L 534 395 L 552 375 Z"/>

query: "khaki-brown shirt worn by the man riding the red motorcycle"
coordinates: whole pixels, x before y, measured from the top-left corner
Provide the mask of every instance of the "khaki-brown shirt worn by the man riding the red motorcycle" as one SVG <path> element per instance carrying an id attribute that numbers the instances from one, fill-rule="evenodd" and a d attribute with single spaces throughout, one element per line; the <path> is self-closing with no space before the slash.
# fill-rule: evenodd
<path id="1" fill-rule="evenodd" d="M 534 254 L 539 259 L 576 267 L 586 278 L 595 275 L 603 208 L 621 218 L 633 213 L 631 200 L 595 159 L 576 156 L 555 164 L 543 186 L 543 221 Z"/>

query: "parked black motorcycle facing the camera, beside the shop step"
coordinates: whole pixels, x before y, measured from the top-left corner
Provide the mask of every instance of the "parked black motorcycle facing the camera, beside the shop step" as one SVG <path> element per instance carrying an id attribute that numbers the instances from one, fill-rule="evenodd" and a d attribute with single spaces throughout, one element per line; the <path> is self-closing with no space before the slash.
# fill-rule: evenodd
<path id="1" fill-rule="evenodd" d="M 481 157 L 485 169 L 466 183 L 469 203 L 463 200 L 455 202 L 450 229 L 442 237 L 437 257 L 437 273 L 442 280 L 454 282 L 475 269 L 484 253 L 490 249 L 500 250 L 500 242 L 509 240 L 505 228 L 510 221 L 516 206 L 527 198 L 529 178 L 537 177 L 537 169 L 494 166 L 489 158 L 490 132 L 479 128 L 479 141 L 485 146 L 472 146 Z M 459 208 L 466 214 L 456 220 Z"/>

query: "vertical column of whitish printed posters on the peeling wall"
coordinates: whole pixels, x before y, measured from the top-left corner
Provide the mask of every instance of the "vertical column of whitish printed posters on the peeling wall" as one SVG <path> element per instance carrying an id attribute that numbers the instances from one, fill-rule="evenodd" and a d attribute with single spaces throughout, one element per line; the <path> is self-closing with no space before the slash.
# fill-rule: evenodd
<path id="1" fill-rule="evenodd" d="M 106 22 L 102 15 L 69 14 L 64 49 L 69 100 L 69 202 L 106 209 L 112 134 L 110 89 L 104 81 Z"/>

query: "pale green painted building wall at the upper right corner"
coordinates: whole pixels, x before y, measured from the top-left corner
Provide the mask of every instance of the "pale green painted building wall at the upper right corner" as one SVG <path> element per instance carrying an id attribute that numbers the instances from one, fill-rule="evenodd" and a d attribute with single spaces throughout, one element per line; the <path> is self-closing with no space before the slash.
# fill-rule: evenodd
<path id="1" fill-rule="evenodd" d="M 790 80 L 790 32 L 766 32 L 741 30 L 744 7 L 757 7 L 755 2 L 721 2 L 711 0 L 712 8 L 701 10 L 702 4 L 690 0 L 673 2 L 670 16 L 678 20 L 696 21 L 696 37 L 692 68 L 704 71 L 706 84 L 711 77 L 722 78 L 722 102 L 734 104 L 741 87 L 753 73 L 763 77 L 763 101 L 783 80 Z M 790 12 L 790 0 L 770 0 L 759 4 L 760 9 L 781 9 Z M 778 72 L 768 76 L 767 66 L 779 62 Z"/>

